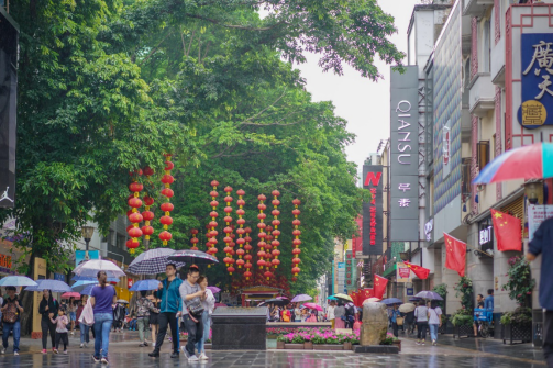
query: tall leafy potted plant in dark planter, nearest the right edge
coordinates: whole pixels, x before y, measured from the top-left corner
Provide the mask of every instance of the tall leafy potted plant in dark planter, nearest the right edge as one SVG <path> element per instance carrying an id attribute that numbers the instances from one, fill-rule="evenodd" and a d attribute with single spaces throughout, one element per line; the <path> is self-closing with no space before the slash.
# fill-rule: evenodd
<path id="1" fill-rule="evenodd" d="M 501 316 L 501 336 L 504 344 L 509 342 L 532 342 L 532 310 L 531 297 L 535 280 L 531 278 L 530 265 L 522 257 L 509 259 L 508 282 L 502 287 L 509 291 L 509 298 L 517 301 L 519 308 Z"/>

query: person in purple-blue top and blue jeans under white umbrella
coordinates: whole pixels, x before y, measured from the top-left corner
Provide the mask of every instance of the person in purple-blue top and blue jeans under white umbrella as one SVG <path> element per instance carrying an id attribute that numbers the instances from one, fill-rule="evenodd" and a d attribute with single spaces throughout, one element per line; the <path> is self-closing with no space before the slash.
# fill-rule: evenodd
<path id="1" fill-rule="evenodd" d="M 106 271 L 99 271 L 98 282 L 100 286 L 92 288 L 90 303 L 95 312 L 95 362 L 109 365 L 108 354 L 110 346 L 111 325 L 113 324 L 113 308 L 118 295 L 113 286 L 108 284 L 108 275 Z M 101 351 L 100 351 L 101 350 Z M 100 356 L 101 355 L 101 356 Z"/>

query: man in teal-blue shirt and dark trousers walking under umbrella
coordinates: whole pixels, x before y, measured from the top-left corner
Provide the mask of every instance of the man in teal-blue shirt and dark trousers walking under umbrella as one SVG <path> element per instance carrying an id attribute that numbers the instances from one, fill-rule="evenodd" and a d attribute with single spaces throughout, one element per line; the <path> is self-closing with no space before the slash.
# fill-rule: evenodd
<path id="1" fill-rule="evenodd" d="M 157 342 L 153 353 L 148 354 L 150 357 L 158 358 L 159 350 L 162 349 L 165 335 L 167 334 L 167 326 L 170 325 L 170 333 L 173 336 L 173 354 L 172 359 L 179 357 L 179 337 L 178 337 L 178 316 L 181 310 L 183 299 L 180 298 L 179 288 L 183 280 L 177 278 L 177 267 L 174 264 L 167 265 L 165 270 L 167 279 L 159 283 L 159 288 L 154 292 L 154 297 L 162 300 L 159 304 L 159 333 L 157 334 Z"/>

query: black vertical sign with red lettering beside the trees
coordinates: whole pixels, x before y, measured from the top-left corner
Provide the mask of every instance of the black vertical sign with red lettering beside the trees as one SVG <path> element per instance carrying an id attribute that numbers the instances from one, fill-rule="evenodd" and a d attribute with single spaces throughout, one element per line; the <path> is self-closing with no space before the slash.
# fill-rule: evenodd
<path id="1" fill-rule="evenodd" d="M 363 255 L 383 255 L 383 169 L 381 165 L 363 166 L 363 188 L 372 194 L 370 202 L 363 203 Z"/>

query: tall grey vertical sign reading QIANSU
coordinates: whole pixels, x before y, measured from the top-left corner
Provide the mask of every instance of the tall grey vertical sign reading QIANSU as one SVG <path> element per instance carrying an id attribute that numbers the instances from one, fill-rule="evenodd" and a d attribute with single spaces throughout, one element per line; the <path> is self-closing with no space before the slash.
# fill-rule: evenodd
<path id="1" fill-rule="evenodd" d="M 391 72 L 390 242 L 419 239 L 419 68 Z"/>

